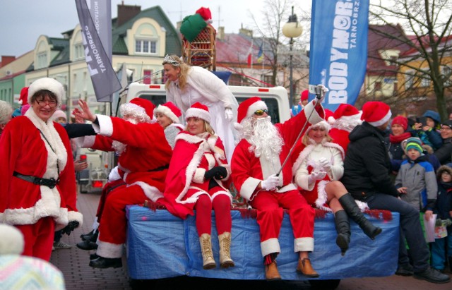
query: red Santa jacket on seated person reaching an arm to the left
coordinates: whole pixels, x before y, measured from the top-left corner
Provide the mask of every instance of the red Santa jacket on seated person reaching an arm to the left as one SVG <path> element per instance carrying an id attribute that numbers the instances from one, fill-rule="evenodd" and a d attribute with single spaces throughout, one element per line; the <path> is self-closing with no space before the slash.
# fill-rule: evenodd
<path id="1" fill-rule="evenodd" d="M 138 123 L 117 117 L 97 115 L 99 126 L 93 125 L 96 136 L 84 137 L 82 147 L 114 151 L 114 140 L 127 145 L 118 158 L 127 185 L 138 185 L 150 200 L 157 200 L 165 191 L 165 177 L 172 150 L 162 126 L 158 123 Z"/>

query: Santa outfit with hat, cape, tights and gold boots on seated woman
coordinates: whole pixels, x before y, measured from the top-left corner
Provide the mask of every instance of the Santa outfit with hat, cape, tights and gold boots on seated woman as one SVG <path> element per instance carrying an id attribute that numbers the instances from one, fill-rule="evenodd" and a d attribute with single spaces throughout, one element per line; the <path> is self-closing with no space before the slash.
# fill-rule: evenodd
<path id="1" fill-rule="evenodd" d="M 195 103 L 186 111 L 185 118 L 187 121 L 197 118 L 209 123 L 208 107 Z M 209 172 L 220 167 L 224 174 L 208 177 Z M 161 202 L 169 212 L 182 219 L 187 215 L 194 215 L 196 209 L 196 229 L 203 250 L 204 269 L 215 267 L 210 243 L 212 210 L 215 211 L 220 241 L 220 263 L 222 267 L 234 265 L 230 259 L 230 246 L 227 246 L 227 253 L 222 250 L 224 243 L 230 245 L 231 238 L 232 195 L 227 190 L 229 181 L 230 166 L 225 157 L 225 147 L 217 135 L 209 132 L 194 135 L 189 131 L 182 131 L 177 135 L 173 158 L 169 164 L 165 198 Z M 227 254 L 227 257 L 222 254 Z"/>

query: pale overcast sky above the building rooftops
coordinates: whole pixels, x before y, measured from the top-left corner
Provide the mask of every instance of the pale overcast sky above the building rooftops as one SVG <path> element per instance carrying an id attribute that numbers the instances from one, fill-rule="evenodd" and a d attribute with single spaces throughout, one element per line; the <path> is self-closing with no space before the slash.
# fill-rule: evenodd
<path id="1" fill-rule="evenodd" d="M 225 26 L 225 32 L 238 33 L 240 26 L 253 28 L 250 12 L 261 15 L 263 0 L 124 0 L 126 5 L 141 6 L 141 10 L 160 5 L 169 20 L 177 21 L 194 14 L 202 6 L 210 8 L 213 26 Z M 112 17 L 117 17 L 117 5 L 112 0 Z M 218 13 L 220 8 L 220 13 Z M 74 0 L 0 0 L 0 56 L 20 56 L 35 48 L 40 35 L 62 37 L 61 32 L 76 27 L 78 16 Z"/>

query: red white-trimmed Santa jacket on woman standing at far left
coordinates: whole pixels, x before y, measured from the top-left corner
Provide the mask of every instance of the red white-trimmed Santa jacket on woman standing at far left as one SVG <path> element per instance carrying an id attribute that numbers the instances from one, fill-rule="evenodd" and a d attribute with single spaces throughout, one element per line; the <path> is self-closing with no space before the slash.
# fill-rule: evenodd
<path id="1" fill-rule="evenodd" d="M 13 176 L 14 171 L 59 179 L 59 184 L 54 188 L 40 186 Z M 32 109 L 11 120 L 1 134 L 0 184 L 0 223 L 35 224 L 42 217 L 53 217 L 56 229 L 69 221 L 83 224 L 76 207 L 69 137 L 61 125 L 44 123 Z"/>

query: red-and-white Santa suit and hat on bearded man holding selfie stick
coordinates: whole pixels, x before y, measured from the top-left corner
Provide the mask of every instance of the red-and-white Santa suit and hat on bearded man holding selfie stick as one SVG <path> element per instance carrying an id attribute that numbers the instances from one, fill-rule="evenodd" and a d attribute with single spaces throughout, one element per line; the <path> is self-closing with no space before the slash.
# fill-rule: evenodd
<path id="1" fill-rule="evenodd" d="M 314 107 L 313 101 L 302 113 L 285 123 L 276 124 L 277 131 L 283 140 L 279 156 L 256 156 L 251 138 L 242 138 L 237 144 L 232 157 L 232 181 L 239 194 L 257 210 L 257 222 L 261 233 L 261 251 L 264 264 L 273 265 L 275 256 L 280 253 L 278 235 L 283 222 L 284 209 L 289 210 L 290 222 L 294 231 L 294 251 L 306 252 L 314 250 L 314 209 L 299 194 L 292 183 L 292 167 L 286 164 L 280 172 L 277 190 L 266 191 L 258 186 L 269 176 L 277 174 L 285 161 L 290 148 L 295 143 L 304 123 L 308 126 L 323 119 L 321 105 Z M 259 97 L 251 97 L 239 106 L 240 125 L 251 120 L 258 110 L 266 110 L 267 106 Z M 309 121 L 307 121 L 310 116 Z M 267 117 L 268 118 L 268 117 Z M 252 129 L 254 131 L 254 129 Z M 308 259 L 309 260 L 309 259 Z M 279 275 L 279 274 L 278 274 Z M 317 276 L 318 277 L 318 276 Z M 269 277 L 267 277 L 269 279 Z"/>

